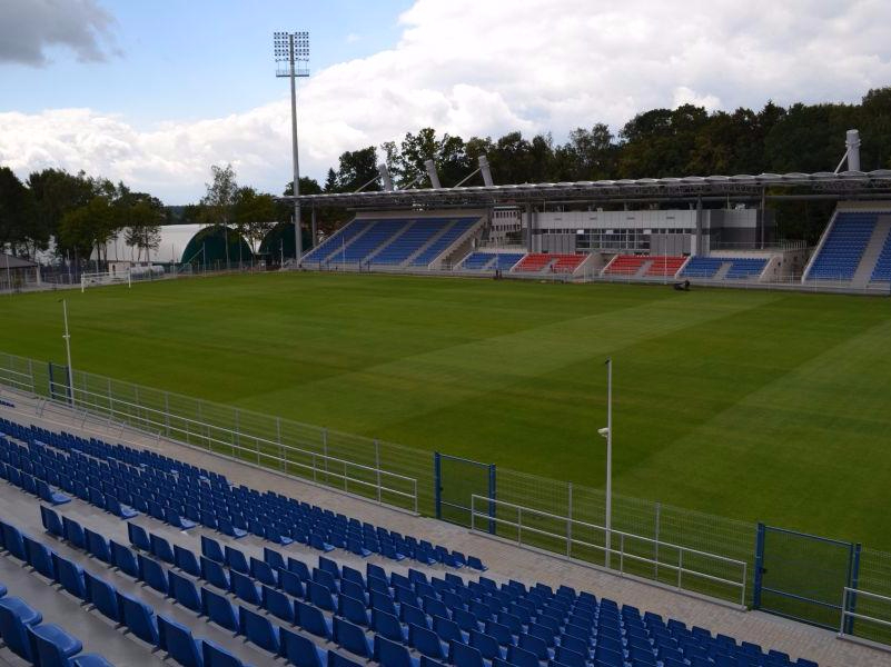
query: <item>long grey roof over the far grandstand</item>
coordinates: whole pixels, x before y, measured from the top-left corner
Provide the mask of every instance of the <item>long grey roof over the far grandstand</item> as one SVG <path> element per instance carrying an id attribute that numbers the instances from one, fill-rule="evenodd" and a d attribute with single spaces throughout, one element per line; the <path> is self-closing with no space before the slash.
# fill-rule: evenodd
<path id="1" fill-rule="evenodd" d="M 397 209 L 413 206 L 511 206 L 539 201 L 606 201 L 622 199 L 695 199 L 696 197 L 761 196 L 771 188 L 795 188 L 805 196 L 891 196 L 891 169 L 818 173 L 762 173 L 759 176 L 687 176 L 626 180 L 472 186 L 416 190 L 344 192 L 280 197 L 310 207 Z"/>

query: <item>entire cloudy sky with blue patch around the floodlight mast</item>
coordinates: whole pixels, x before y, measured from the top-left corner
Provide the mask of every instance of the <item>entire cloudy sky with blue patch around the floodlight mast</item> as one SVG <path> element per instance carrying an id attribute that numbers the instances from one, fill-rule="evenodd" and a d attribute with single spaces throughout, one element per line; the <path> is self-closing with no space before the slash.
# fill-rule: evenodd
<path id="1" fill-rule="evenodd" d="M 197 201 L 214 163 L 265 191 L 289 181 L 278 30 L 310 33 L 300 173 L 318 180 L 428 126 L 562 141 L 654 107 L 891 84 L 887 0 L 0 0 L 0 166 L 83 169 L 171 205 Z"/>

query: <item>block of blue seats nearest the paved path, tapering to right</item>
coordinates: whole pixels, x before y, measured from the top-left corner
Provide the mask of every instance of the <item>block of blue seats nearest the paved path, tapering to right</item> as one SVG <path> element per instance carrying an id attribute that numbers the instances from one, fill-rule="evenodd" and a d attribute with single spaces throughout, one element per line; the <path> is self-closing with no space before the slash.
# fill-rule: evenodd
<path id="1" fill-rule="evenodd" d="M 119 506 L 129 511 L 136 508 L 179 529 L 184 529 L 185 520 L 190 526 L 200 524 L 236 539 L 250 532 L 276 544 L 297 540 L 323 551 L 341 548 L 363 557 L 380 554 L 393 560 L 407 557 L 424 564 L 484 569 L 478 559 L 443 546 L 278 494 L 231 487 L 224 476 L 157 454 L 33 427 L 26 429 L 6 420 L 0 420 L 0 432 L 32 441 L 32 448 L 49 456 L 52 466 L 44 470 L 48 485 L 61 486 L 65 491 L 108 511 Z M 68 456 L 61 455 L 62 451 Z M 30 472 L 26 471 L 23 479 L 33 485 Z M 109 502 L 110 497 L 117 502 Z M 171 552 L 167 559 L 172 563 L 174 558 Z"/>

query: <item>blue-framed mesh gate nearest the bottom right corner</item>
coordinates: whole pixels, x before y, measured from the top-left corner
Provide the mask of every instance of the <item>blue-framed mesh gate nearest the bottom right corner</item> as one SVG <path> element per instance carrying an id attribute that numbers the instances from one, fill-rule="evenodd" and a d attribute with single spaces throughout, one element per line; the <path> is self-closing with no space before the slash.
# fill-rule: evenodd
<path id="1" fill-rule="evenodd" d="M 859 566 L 859 544 L 759 524 L 752 606 L 838 630 L 844 589 L 857 588 Z"/>

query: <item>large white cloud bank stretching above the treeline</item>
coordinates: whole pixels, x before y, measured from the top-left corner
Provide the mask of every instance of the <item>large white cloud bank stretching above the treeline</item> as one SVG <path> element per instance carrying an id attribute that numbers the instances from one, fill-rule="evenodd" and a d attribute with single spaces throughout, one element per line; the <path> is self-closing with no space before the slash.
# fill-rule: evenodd
<path id="1" fill-rule="evenodd" d="M 620 127 L 653 107 L 855 101 L 891 81 L 881 0 L 418 0 L 390 50 L 329 67 L 300 91 L 301 171 L 344 150 L 440 131 L 499 135 Z M 142 130 L 96 110 L 0 113 L 0 162 L 86 169 L 168 201 L 197 198 L 209 165 L 279 191 L 290 171 L 287 100 Z"/>

